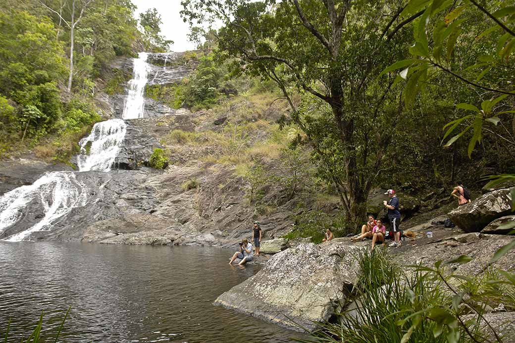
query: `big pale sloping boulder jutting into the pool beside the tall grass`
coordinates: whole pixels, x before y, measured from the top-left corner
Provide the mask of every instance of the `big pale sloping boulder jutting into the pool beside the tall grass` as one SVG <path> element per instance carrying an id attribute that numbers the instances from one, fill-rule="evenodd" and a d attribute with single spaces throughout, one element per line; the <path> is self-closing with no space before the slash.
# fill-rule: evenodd
<path id="1" fill-rule="evenodd" d="M 224 305 L 300 330 L 329 319 L 357 279 L 364 248 L 335 243 L 300 244 L 272 256 L 256 275 L 215 300 Z"/>

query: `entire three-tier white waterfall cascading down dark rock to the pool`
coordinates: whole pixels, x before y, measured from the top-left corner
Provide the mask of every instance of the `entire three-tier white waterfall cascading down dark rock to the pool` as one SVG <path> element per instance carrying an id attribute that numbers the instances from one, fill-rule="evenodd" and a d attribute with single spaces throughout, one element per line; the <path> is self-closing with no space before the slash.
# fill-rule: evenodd
<path id="1" fill-rule="evenodd" d="M 134 79 L 129 81 L 129 95 L 124 106 L 124 119 L 142 118 L 147 83 L 147 53 L 134 59 Z M 127 125 L 123 119 L 110 119 L 93 126 L 89 136 L 83 138 L 77 156 L 79 173 L 83 171 L 109 171 L 124 141 Z M 45 173 L 31 185 L 21 186 L 0 197 L 0 235 L 30 215 L 33 209 L 42 208 L 43 217 L 28 229 L 11 234 L 5 241 L 19 242 L 30 239 L 36 231 L 52 229 L 53 225 L 74 208 L 88 201 L 88 187 L 77 180 L 75 171 Z M 30 218 L 29 218 L 30 220 Z"/>

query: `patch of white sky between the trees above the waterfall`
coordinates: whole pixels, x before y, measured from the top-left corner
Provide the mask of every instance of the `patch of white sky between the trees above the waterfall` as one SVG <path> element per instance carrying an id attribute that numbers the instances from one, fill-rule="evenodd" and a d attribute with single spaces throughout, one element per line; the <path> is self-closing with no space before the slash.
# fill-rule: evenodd
<path id="1" fill-rule="evenodd" d="M 161 14 L 161 34 L 174 41 L 171 50 L 180 52 L 195 49 L 195 45 L 188 41 L 186 35 L 190 27 L 181 19 L 180 10 L 182 9 L 181 0 L 132 0 L 136 5 L 134 15 L 139 18 L 140 13 L 149 8 L 156 8 Z"/>

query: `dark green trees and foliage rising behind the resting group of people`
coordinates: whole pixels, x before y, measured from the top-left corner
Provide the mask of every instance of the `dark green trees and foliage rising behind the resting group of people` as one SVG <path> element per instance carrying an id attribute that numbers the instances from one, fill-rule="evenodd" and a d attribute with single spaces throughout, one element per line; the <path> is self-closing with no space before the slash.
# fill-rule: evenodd
<path id="1" fill-rule="evenodd" d="M 454 74 L 474 73 L 490 88 L 512 79 L 506 77 L 513 71 L 512 40 L 500 36 L 502 29 L 491 28 L 495 23 L 474 3 L 187 0 L 182 14 L 194 36 L 199 35 L 196 25 L 222 21 L 218 59 L 230 61 L 236 75 L 277 83 L 292 110 L 282 123 L 303 131 L 293 144 L 310 146 L 318 176 L 339 195 L 349 219 L 357 221 L 372 186 L 390 188 L 418 180 L 414 191 L 420 191 L 449 187 L 457 180 L 478 184 L 485 175 L 513 172 L 513 125 L 486 120 L 495 109 L 512 124 L 511 97 L 495 104 L 488 101 L 499 94 L 481 95 L 489 106 L 484 113 L 476 111 L 476 118 L 489 125 L 475 142 L 482 149 L 471 155 L 471 145 L 441 146 L 452 132 L 441 129 L 461 118 L 462 109 L 473 109 L 455 104 L 467 103 L 482 91 L 467 82 L 462 87 Z M 490 2 L 488 10 L 512 25 L 511 5 Z M 465 17 L 457 19 L 460 14 Z M 433 27 L 438 29 L 434 34 Z M 479 37 L 485 30 L 488 35 Z M 417 43 L 410 47 L 414 37 Z M 428 69 L 432 62 L 422 61 L 432 46 L 447 63 L 441 64 L 444 68 Z M 497 57 L 484 57 L 495 50 Z M 499 72 L 487 62 L 496 63 Z M 407 66 L 401 75 L 392 73 Z M 474 121 L 478 126 L 472 115 L 451 128 L 461 125 L 468 135 Z"/>

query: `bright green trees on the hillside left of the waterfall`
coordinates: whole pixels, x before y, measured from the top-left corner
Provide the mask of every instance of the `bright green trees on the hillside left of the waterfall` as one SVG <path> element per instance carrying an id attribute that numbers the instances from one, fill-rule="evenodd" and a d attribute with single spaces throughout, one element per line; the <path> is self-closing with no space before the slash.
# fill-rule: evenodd
<path id="1" fill-rule="evenodd" d="M 126 0 L 0 4 L 0 158 L 33 148 L 38 157 L 67 162 L 77 152 L 77 141 L 100 120 L 98 78 L 107 80 L 106 93 L 123 92 L 130 75 L 112 72 L 112 60 L 134 55 L 138 44 L 157 48 L 159 18 L 142 17 L 153 30 L 142 34 L 134 9 Z"/>

